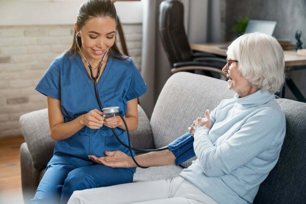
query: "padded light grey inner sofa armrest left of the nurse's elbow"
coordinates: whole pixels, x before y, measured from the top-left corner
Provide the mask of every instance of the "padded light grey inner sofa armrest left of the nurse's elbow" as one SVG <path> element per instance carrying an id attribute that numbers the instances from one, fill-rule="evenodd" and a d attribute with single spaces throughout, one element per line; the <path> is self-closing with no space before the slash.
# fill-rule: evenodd
<path id="1" fill-rule="evenodd" d="M 55 141 L 50 137 L 48 109 L 26 113 L 19 119 L 22 134 L 38 171 L 46 168 L 53 156 Z"/>

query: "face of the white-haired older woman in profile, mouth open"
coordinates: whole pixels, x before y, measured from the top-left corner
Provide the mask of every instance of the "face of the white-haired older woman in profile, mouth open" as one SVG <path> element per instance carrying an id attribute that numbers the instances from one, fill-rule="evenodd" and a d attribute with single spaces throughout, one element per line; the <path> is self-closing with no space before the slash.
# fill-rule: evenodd
<path id="1" fill-rule="evenodd" d="M 235 91 L 240 97 L 244 97 L 255 93 L 258 91 L 255 85 L 252 85 L 248 80 L 244 79 L 241 73 L 238 70 L 238 63 L 239 62 L 230 62 L 230 66 L 226 64 L 222 72 L 226 73 L 228 78 L 227 88 L 229 90 Z"/>

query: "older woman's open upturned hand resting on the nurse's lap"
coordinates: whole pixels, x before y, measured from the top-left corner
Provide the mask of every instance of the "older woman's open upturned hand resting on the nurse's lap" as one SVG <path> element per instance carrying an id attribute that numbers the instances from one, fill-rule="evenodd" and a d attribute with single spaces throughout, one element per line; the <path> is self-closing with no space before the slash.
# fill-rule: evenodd
<path id="1" fill-rule="evenodd" d="M 95 155 L 88 155 L 88 158 L 95 161 L 98 164 L 103 164 L 112 168 L 131 168 L 136 167 L 136 164 L 132 160 L 132 157 L 126 155 L 124 152 L 117 151 L 105 151 L 105 157 L 96 157 Z"/>

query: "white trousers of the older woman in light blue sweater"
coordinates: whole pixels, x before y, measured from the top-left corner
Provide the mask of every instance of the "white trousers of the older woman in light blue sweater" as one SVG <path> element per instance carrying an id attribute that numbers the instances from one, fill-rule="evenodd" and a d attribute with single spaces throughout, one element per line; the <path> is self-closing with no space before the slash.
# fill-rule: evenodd
<path id="1" fill-rule="evenodd" d="M 217 202 L 181 176 L 159 181 L 145 181 L 74 191 L 68 204 L 137 203 L 185 204 Z"/>

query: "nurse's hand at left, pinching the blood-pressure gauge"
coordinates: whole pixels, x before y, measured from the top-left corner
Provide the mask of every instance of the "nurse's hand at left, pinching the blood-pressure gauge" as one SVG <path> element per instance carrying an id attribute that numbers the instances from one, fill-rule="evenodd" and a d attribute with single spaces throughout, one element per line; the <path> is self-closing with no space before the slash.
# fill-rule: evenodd
<path id="1" fill-rule="evenodd" d="M 93 109 L 82 115 L 80 123 L 91 129 L 99 129 L 104 123 L 104 117 L 102 117 L 102 115 L 103 112 L 99 111 L 98 109 Z"/>

